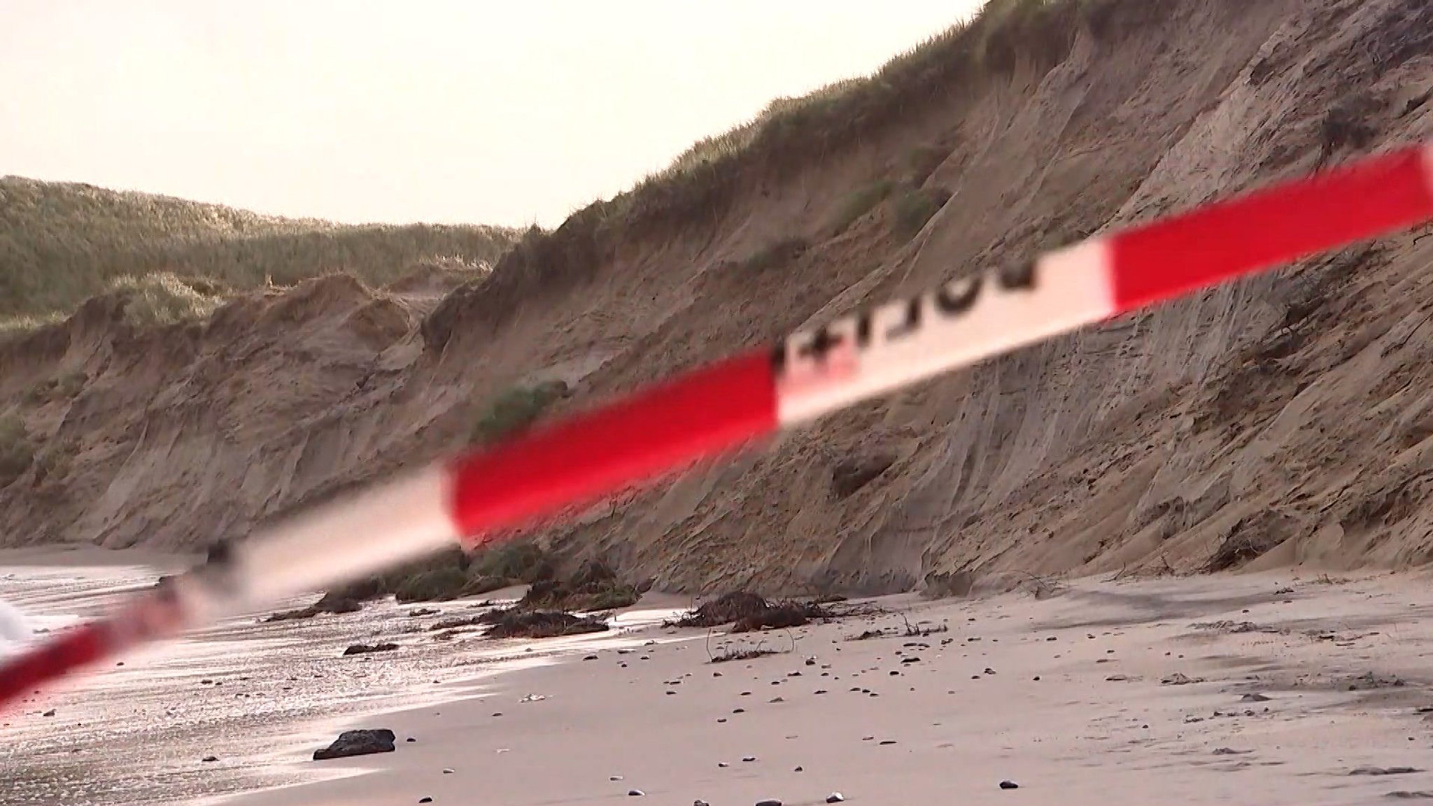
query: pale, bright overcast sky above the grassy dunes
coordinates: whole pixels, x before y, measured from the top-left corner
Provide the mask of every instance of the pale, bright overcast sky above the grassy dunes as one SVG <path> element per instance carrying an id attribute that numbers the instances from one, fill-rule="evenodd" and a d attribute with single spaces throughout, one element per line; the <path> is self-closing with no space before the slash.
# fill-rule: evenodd
<path id="1" fill-rule="evenodd" d="M 0 175 L 555 227 L 980 0 L 0 0 Z"/>

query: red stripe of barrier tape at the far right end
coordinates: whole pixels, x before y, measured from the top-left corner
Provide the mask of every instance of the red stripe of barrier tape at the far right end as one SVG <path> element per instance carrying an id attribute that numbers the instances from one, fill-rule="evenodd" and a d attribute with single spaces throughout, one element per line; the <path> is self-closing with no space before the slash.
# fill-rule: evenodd
<path id="1" fill-rule="evenodd" d="M 1433 217 L 1407 148 L 1136 227 L 1111 240 L 1118 313 Z"/>

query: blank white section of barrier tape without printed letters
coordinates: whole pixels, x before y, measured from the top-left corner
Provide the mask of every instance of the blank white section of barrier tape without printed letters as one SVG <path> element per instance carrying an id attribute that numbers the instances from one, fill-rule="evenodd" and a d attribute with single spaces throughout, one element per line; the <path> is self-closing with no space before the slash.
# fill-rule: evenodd
<path id="1" fill-rule="evenodd" d="M 321 591 L 456 545 L 450 489 L 449 469 L 434 465 L 235 544 L 232 604 L 242 610 Z"/>

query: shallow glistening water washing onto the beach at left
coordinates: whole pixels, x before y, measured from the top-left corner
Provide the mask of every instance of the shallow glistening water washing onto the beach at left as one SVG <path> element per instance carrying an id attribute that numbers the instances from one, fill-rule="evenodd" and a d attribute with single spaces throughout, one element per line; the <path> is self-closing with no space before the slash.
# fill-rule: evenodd
<path id="1" fill-rule="evenodd" d="M 0 599 L 54 630 L 155 578 L 138 566 L 10 566 Z M 410 615 L 418 607 L 438 612 Z M 192 803 L 335 774 L 310 756 L 364 714 L 477 696 L 486 675 L 633 643 L 628 628 L 671 614 L 623 614 L 612 632 L 536 643 L 476 631 L 437 640 L 430 630 L 479 607 L 390 601 L 305 621 L 246 617 L 126 657 L 0 716 L 0 806 Z M 400 648 L 342 657 L 350 644 L 378 641 Z"/>

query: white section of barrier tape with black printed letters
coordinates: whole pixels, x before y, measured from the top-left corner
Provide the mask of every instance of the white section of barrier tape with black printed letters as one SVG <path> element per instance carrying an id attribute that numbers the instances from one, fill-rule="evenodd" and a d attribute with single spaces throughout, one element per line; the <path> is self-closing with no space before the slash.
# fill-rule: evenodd
<path id="1" fill-rule="evenodd" d="M 959 313 L 937 305 L 936 294 L 920 297 L 920 321 L 911 328 L 904 328 L 904 323 L 913 301 L 876 308 L 870 341 L 860 349 L 854 347 L 860 314 L 831 323 L 825 330 L 840 337 L 841 344 L 828 351 L 824 367 L 792 349 L 808 343 L 811 333 L 788 338 L 787 363 L 777 381 L 781 425 L 814 420 L 1116 313 L 1111 250 L 1103 238 L 1040 257 L 1032 288 L 1005 288 L 995 272 L 987 272 L 950 283 L 946 290 L 960 297 L 970 293 L 973 283 L 980 283 L 977 295 Z"/>

